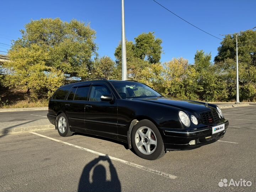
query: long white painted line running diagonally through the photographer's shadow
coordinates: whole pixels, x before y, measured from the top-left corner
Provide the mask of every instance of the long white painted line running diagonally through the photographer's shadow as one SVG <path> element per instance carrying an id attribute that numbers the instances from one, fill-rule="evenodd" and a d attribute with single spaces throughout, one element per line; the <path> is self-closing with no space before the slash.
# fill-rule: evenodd
<path id="1" fill-rule="evenodd" d="M 87 152 L 90 152 L 90 153 L 93 153 L 93 154 L 96 154 L 96 155 L 99 155 L 99 156 L 103 156 L 105 158 L 108 158 L 108 159 L 111 159 L 111 160 L 114 160 L 114 161 L 118 161 L 118 162 L 121 162 L 123 164 L 126 164 L 126 165 L 130 165 L 130 166 L 133 166 L 133 167 L 136 167 L 138 169 L 142 169 L 144 171 L 149 171 L 151 173 L 154 173 L 156 175 L 161 175 L 161 176 L 164 176 L 164 177 L 168 177 L 168 178 L 171 178 L 171 179 L 175 179 L 177 178 L 177 176 L 174 176 L 174 175 L 170 175 L 170 174 L 167 174 L 165 172 L 161 172 L 161 171 L 158 171 L 158 170 L 154 170 L 154 169 L 150 169 L 148 167 L 144 167 L 142 165 L 138 165 L 138 164 L 135 164 L 135 163 L 132 163 L 132 162 L 129 162 L 129 161 L 125 161 L 125 160 L 122 160 L 122 159 L 118 159 L 118 158 L 115 158 L 115 157 L 112 157 L 112 156 L 109 156 L 109 155 L 106 155 L 106 154 L 103 154 L 103 153 L 99 153 L 97 151 L 93 151 L 91 149 L 87 149 L 87 148 L 84 148 L 84 147 L 81 147 L 81 146 L 78 146 L 78 145 L 74 145 L 74 144 L 71 144 L 71 143 L 67 143 L 67 142 L 64 142 L 64 141 L 61 141 L 61 140 L 58 140 L 58 139 L 54 139 L 54 138 L 51 138 L 51 137 L 47 137 L 45 135 L 41 135 L 41 134 L 38 134 L 38 133 L 35 133 L 35 132 L 30 132 L 34 135 L 38 135 L 40 137 L 44 137 L 44 138 L 47 138 L 47 139 L 50 139 L 50 140 L 53 140 L 55 142 L 60 142 L 60 143 L 63 143 L 63 144 L 66 144 L 66 145 L 69 145 L 69 146 L 73 146 L 75 148 L 78 148 L 78 149 L 81 149 L 81 150 L 84 150 L 84 151 L 87 151 Z"/>

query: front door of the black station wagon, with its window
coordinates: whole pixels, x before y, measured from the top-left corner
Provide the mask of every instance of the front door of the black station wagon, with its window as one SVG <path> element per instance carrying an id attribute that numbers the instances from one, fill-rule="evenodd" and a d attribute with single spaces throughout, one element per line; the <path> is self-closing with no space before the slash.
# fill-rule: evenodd
<path id="1" fill-rule="evenodd" d="M 95 135 L 117 139 L 117 101 L 101 101 L 101 95 L 113 95 L 105 83 L 92 83 L 85 106 L 85 124 Z"/>

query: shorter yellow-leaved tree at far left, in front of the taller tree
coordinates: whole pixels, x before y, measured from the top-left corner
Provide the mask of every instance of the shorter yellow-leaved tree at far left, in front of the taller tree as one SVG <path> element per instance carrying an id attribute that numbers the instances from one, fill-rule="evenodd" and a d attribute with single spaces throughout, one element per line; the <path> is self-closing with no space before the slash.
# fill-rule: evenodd
<path id="1" fill-rule="evenodd" d="M 31 97 L 33 99 L 43 97 L 48 91 L 52 93 L 54 90 L 47 89 L 46 85 L 51 84 L 53 79 L 58 81 L 54 86 L 60 86 L 64 82 L 63 73 L 56 73 L 54 68 L 46 65 L 49 55 L 37 44 L 12 49 L 9 51 L 9 57 L 11 62 L 3 64 L 8 72 L 5 75 L 4 85 L 26 90 L 28 101 Z M 45 89 L 46 92 L 43 91 Z"/>

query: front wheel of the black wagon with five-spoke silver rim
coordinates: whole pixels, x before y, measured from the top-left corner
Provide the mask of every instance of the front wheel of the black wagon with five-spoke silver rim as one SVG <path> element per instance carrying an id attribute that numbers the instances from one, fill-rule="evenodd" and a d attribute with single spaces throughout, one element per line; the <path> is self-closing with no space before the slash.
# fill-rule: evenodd
<path id="1" fill-rule="evenodd" d="M 164 142 L 155 124 L 147 119 L 139 121 L 132 129 L 132 146 L 135 153 L 147 160 L 164 156 Z"/>

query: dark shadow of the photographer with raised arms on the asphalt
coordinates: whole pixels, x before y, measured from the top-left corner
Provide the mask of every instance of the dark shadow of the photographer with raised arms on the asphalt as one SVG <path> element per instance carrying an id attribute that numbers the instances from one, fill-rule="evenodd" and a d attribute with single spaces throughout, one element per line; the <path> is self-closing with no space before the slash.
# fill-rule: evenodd
<path id="1" fill-rule="evenodd" d="M 107 181 L 106 168 L 100 161 L 107 161 L 109 167 L 106 167 L 110 170 L 111 180 Z M 90 176 L 90 172 L 92 176 Z M 90 178 L 92 181 L 90 182 Z M 112 164 L 111 159 L 108 156 L 99 156 L 98 158 L 89 162 L 82 171 L 80 177 L 78 192 L 90 192 L 90 191 L 116 191 L 121 192 L 121 183 L 119 181 L 116 168 Z"/>

